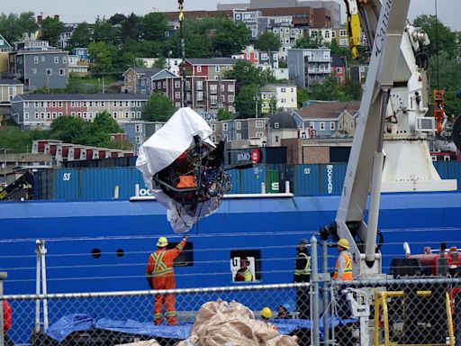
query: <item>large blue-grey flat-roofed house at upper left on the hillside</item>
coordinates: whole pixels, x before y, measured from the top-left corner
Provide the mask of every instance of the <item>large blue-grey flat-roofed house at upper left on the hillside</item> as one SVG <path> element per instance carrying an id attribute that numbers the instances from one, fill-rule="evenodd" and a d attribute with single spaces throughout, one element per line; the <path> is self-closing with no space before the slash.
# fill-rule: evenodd
<path id="1" fill-rule="evenodd" d="M 68 85 L 68 51 L 23 50 L 10 54 L 10 72 L 21 79 L 24 90 Z"/>

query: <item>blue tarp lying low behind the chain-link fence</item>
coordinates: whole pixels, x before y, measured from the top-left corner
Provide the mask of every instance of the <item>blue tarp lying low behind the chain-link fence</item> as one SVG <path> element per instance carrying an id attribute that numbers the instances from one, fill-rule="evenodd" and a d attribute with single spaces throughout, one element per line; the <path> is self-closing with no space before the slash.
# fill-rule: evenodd
<path id="1" fill-rule="evenodd" d="M 357 319 L 340 320 L 329 318 L 331 326 L 339 324 L 345 325 L 355 323 Z M 312 323 L 310 320 L 274 320 L 273 324 L 277 327 L 277 331 L 281 334 L 290 334 L 299 329 L 311 329 Z M 45 333 L 50 338 L 57 341 L 64 341 L 72 332 L 87 331 L 92 329 L 100 329 L 113 332 L 126 332 L 134 335 L 151 336 L 152 338 L 167 338 L 185 340 L 189 337 L 192 328 L 192 323 L 179 325 L 155 325 L 154 323 L 140 323 L 137 321 L 116 321 L 108 318 L 95 319 L 88 314 L 68 314 L 63 316 L 53 323 Z M 323 322 L 321 320 L 321 334 L 323 333 Z"/>

